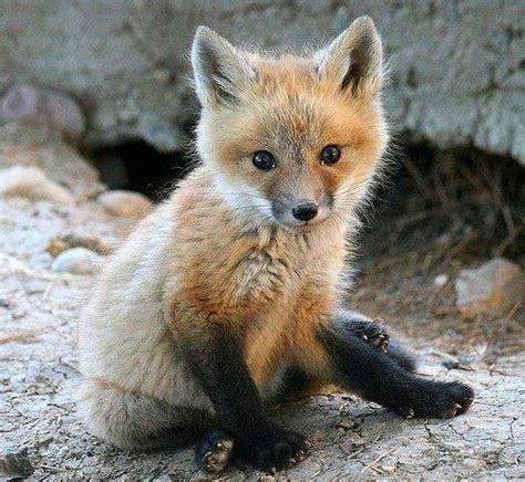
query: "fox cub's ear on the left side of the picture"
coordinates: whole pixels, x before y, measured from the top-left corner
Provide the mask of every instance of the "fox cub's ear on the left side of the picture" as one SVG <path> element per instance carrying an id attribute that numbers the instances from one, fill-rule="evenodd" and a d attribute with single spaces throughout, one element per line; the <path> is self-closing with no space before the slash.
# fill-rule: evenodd
<path id="1" fill-rule="evenodd" d="M 197 97 L 208 107 L 235 103 L 256 77 L 244 54 L 206 27 L 195 33 L 192 65 Z"/>

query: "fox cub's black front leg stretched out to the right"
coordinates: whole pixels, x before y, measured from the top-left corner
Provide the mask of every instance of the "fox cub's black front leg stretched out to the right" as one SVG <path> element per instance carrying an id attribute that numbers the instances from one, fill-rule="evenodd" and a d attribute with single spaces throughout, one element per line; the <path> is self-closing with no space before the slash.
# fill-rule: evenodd
<path id="1" fill-rule="evenodd" d="M 416 377 L 344 323 L 320 328 L 318 338 L 331 383 L 399 415 L 446 418 L 463 413 L 472 404 L 474 392 L 469 386 Z"/>

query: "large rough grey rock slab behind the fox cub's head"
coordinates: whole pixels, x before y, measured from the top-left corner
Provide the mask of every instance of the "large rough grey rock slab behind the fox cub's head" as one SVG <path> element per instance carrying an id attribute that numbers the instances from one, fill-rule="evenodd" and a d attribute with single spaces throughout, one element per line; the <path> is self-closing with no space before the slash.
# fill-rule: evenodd
<path id="1" fill-rule="evenodd" d="M 525 165 L 523 0 L 11 0 L 0 22 L 0 93 L 31 83 L 76 97 L 92 145 L 181 148 L 195 101 L 195 27 L 265 48 L 319 44 L 361 14 L 383 34 L 397 130 L 474 145 Z"/>

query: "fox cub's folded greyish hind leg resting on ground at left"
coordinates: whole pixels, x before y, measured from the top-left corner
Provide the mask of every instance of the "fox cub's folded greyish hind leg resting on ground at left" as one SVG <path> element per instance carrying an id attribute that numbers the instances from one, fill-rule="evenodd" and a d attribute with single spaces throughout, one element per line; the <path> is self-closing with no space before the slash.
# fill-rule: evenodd
<path id="1" fill-rule="evenodd" d="M 174 407 L 99 380 L 84 381 L 79 410 L 92 434 L 124 450 L 191 444 L 213 423 L 204 410 Z"/>

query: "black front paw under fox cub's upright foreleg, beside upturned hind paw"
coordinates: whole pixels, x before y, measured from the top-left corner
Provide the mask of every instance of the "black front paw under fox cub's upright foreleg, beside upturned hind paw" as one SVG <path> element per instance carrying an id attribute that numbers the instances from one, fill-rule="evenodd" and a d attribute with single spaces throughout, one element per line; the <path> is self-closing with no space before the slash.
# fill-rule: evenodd
<path id="1" fill-rule="evenodd" d="M 307 457 L 309 443 L 305 437 L 274 426 L 241 443 L 240 457 L 260 470 L 276 472 L 288 469 Z"/>

